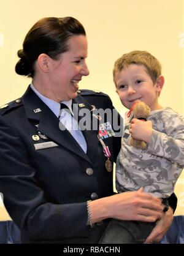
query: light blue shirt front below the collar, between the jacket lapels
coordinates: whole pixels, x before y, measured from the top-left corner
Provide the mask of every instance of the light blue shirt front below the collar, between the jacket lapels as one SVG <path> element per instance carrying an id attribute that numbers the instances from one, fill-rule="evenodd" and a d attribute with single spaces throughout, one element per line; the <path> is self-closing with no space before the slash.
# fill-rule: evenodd
<path id="1" fill-rule="evenodd" d="M 69 108 L 66 106 L 66 104 L 60 103 L 60 105 L 61 107 L 60 107 L 59 117 L 58 117 L 60 122 L 63 123 L 66 129 L 74 137 L 75 141 L 78 142 L 80 147 L 82 147 L 83 151 L 86 153 L 87 151 L 86 141 L 82 134 L 82 131 L 79 128 L 77 120 L 75 120 L 75 118 L 71 114 L 71 111 L 69 111 Z"/>

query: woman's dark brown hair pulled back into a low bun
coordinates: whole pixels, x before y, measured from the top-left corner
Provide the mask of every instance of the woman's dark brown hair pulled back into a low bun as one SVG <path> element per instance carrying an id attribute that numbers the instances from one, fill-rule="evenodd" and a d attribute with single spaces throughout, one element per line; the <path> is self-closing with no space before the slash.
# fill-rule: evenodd
<path id="1" fill-rule="evenodd" d="M 75 18 L 42 18 L 29 30 L 23 49 L 18 50 L 20 60 L 15 71 L 19 75 L 34 77 L 34 63 L 41 53 L 57 60 L 61 53 L 69 50 L 69 38 L 80 34 L 85 36 L 85 29 Z"/>

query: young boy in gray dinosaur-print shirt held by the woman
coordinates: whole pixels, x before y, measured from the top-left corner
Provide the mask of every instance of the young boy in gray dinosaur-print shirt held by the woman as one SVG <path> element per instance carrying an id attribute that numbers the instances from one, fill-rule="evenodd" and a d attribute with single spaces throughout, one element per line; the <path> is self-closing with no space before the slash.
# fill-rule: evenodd
<path id="1" fill-rule="evenodd" d="M 158 103 L 164 85 L 161 64 L 148 52 L 129 52 L 115 62 L 113 81 L 123 106 L 131 109 L 136 101 L 144 101 L 151 109 L 146 122 L 132 118 L 126 125 L 116 165 L 117 191 L 143 187 L 168 198 L 184 166 L 184 118 Z M 130 146 L 131 136 L 147 142 L 147 148 Z M 154 227 L 153 222 L 112 219 L 100 242 L 143 243 Z"/>

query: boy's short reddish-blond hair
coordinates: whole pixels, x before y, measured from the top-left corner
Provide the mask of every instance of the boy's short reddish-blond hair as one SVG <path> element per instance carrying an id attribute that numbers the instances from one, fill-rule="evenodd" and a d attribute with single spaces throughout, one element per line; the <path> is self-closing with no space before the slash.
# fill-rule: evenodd
<path id="1" fill-rule="evenodd" d="M 159 61 L 153 55 L 151 55 L 151 53 L 136 50 L 123 54 L 123 56 L 115 61 L 113 67 L 113 82 L 115 85 L 116 72 L 120 72 L 123 68 L 127 68 L 130 64 L 144 65 L 153 83 L 155 83 L 156 79 L 161 76 L 161 64 Z"/>

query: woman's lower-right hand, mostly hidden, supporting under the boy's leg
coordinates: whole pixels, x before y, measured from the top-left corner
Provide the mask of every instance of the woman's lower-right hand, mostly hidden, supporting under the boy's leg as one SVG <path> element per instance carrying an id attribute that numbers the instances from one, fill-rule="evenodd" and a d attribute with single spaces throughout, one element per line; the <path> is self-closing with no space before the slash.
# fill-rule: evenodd
<path id="1" fill-rule="evenodd" d="M 163 212 L 163 216 L 156 223 L 155 228 L 151 231 L 150 235 L 145 241 L 145 244 L 149 244 L 153 241 L 160 241 L 166 234 L 167 230 L 171 227 L 173 220 L 173 212 L 171 207 L 169 207 L 167 212 Z"/>

